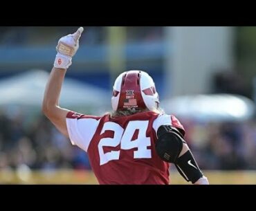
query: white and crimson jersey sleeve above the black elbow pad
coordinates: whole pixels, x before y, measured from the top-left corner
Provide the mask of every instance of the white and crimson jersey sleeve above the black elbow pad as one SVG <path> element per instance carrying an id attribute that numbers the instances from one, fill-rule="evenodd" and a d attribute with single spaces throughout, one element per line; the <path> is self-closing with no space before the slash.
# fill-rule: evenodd
<path id="1" fill-rule="evenodd" d="M 183 136 L 185 135 L 185 129 L 183 125 L 181 125 L 181 122 L 174 115 L 167 115 L 165 113 L 158 115 L 158 117 L 156 118 L 156 120 L 154 120 L 153 123 L 153 128 L 156 131 L 156 134 L 158 128 L 162 125 L 170 125 L 171 127 L 178 129 Z"/>

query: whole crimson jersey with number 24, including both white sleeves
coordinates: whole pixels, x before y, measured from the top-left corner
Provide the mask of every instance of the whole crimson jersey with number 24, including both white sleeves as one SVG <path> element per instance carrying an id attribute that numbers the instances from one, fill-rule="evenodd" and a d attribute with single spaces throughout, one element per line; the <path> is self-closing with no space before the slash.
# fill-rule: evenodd
<path id="1" fill-rule="evenodd" d="M 153 111 L 118 118 L 70 111 L 66 125 L 71 143 L 87 152 L 100 184 L 169 184 L 170 164 L 156 154 L 156 132 L 171 125 L 185 134 L 174 116 Z"/>

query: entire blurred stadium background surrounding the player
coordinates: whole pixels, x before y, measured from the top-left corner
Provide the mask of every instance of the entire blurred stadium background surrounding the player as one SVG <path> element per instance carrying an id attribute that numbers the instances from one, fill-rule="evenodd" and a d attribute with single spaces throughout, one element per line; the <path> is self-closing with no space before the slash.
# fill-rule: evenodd
<path id="1" fill-rule="evenodd" d="M 256 27 L 84 28 L 62 107 L 100 116 L 120 73 L 147 71 L 210 183 L 256 184 Z M 41 112 L 57 41 L 75 30 L 0 27 L 0 183 L 97 184 L 86 153 Z"/>

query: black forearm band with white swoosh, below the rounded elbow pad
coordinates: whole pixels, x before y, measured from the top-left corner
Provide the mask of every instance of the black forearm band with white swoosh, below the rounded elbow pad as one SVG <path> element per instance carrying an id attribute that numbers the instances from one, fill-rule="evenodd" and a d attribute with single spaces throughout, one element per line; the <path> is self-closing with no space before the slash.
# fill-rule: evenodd
<path id="1" fill-rule="evenodd" d="M 176 160 L 176 168 L 186 181 L 195 183 L 203 176 L 190 150 Z"/>

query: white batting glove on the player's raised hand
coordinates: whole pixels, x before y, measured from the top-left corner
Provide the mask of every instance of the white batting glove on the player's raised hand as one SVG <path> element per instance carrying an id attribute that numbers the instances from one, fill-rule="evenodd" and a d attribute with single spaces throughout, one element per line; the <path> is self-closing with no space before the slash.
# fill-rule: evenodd
<path id="1" fill-rule="evenodd" d="M 82 35 L 84 28 L 80 27 L 72 35 L 66 35 L 60 38 L 56 51 L 57 55 L 54 61 L 55 68 L 68 68 L 72 64 L 72 57 L 79 48 L 79 38 Z"/>

